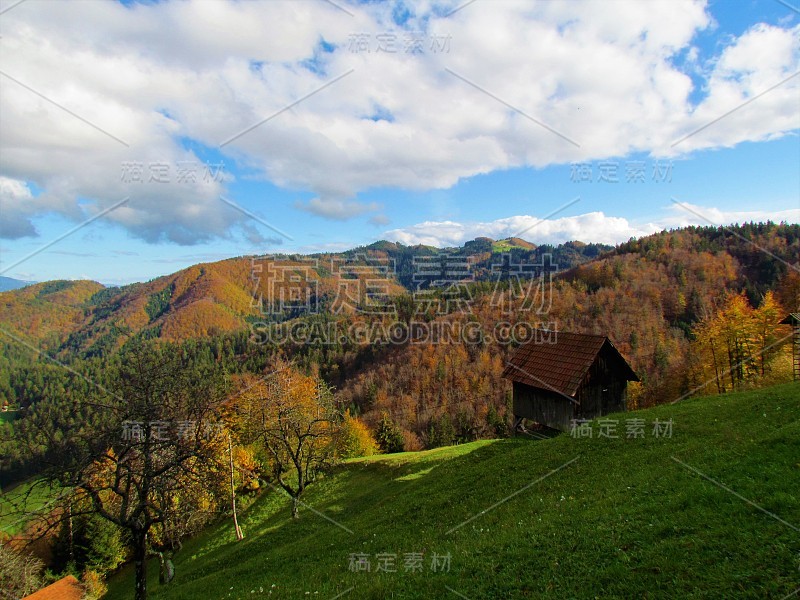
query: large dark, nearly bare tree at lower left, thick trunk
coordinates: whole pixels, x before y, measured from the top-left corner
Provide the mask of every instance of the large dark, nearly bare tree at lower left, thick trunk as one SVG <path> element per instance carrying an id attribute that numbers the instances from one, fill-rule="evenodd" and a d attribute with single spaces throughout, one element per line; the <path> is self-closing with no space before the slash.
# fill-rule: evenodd
<path id="1" fill-rule="evenodd" d="M 196 367 L 175 346 L 136 343 L 107 379 L 107 387 L 98 385 L 101 398 L 77 401 L 77 422 L 53 418 L 53 410 L 63 409 L 60 399 L 37 407 L 27 441 L 39 453 L 44 479 L 88 498 L 87 511 L 128 533 L 135 598 L 144 600 L 149 548 L 179 547 L 181 537 L 205 523 L 200 505 L 213 500 L 216 488 L 224 492 L 217 408 L 226 378 L 219 369 Z"/>

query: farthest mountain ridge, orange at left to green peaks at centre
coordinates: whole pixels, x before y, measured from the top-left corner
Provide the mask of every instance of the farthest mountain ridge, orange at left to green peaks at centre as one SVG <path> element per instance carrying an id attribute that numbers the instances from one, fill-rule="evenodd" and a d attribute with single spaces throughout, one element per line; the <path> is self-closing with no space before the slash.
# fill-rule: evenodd
<path id="1" fill-rule="evenodd" d="M 340 275 L 332 272 L 338 265 L 349 265 L 352 272 L 345 278 L 359 279 L 360 297 L 366 297 L 371 276 L 368 271 L 354 274 L 358 269 L 353 265 L 390 264 L 387 292 L 394 296 L 416 289 L 414 275 L 422 257 L 443 253 L 458 257 L 470 265 L 475 281 L 483 281 L 495 276 L 493 265 L 500 265 L 505 254 L 512 255 L 514 263 L 530 264 L 541 264 L 543 255 L 550 254 L 553 264 L 565 271 L 611 250 L 611 246 L 580 242 L 536 246 L 519 238 L 498 242 L 478 238 L 446 249 L 382 240 L 337 254 L 239 257 L 122 287 L 90 281 L 31 285 L 3 298 L 0 323 L 31 342 L 46 339 L 53 349 L 103 355 L 140 333 L 168 340 L 207 338 L 243 330 L 253 321 L 292 318 L 291 312 L 265 316 L 259 305 L 259 298 L 281 293 L 287 284 L 276 284 L 275 274 L 291 265 L 308 281 L 315 281 L 314 301 L 330 306 L 341 293 Z M 309 265 L 311 271 L 306 271 Z"/>

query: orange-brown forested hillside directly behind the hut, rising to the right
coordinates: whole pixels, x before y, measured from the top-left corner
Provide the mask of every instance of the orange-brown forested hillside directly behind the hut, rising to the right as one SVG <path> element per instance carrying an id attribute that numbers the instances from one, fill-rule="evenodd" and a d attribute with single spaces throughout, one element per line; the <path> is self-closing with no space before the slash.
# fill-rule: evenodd
<path id="1" fill-rule="evenodd" d="M 778 321 L 800 306 L 799 234 L 797 225 L 757 225 L 631 241 L 556 278 L 549 311 L 535 317 L 564 331 L 608 335 L 642 379 L 631 386 L 633 406 L 674 400 L 697 387 L 709 393 L 759 378 L 787 380 L 790 329 Z M 479 296 L 472 308 L 469 319 L 482 331 L 532 316 L 518 306 L 506 311 L 494 305 L 491 294 Z M 711 382 L 713 372 L 697 366 L 711 363 L 700 355 L 709 354 L 712 338 L 720 351 L 736 346 L 730 355 L 724 351 L 724 361 L 717 357 L 720 372 L 745 366 L 721 389 Z M 770 344 L 763 353 L 769 367 L 761 372 L 758 349 Z M 407 447 L 413 449 L 501 434 L 510 392 L 501 374 L 515 346 L 512 340 L 391 347 L 357 377 L 344 378 L 340 395 L 374 425 L 383 413 L 392 415 L 410 432 Z"/>

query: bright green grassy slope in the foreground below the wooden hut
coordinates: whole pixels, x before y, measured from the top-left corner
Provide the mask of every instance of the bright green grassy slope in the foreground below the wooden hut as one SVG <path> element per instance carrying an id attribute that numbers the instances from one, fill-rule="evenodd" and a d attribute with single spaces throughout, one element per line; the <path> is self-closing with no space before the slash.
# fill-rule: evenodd
<path id="1" fill-rule="evenodd" d="M 308 509 L 292 522 L 286 498 L 270 493 L 243 519 L 243 542 L 226 522 L 186 544 L 169 587 L 151 563 L 152 597 L 458 598 L 449 587 L 472 599 L 782 598 L 800 587 L 800 386 L 637 412 L 644 439 L 625 438 L 633 416 L 618 415 L 616 440 L 562 435 L 353 461 L 305 498 L 352 533 Z M 674 419 L 671 439 L 652 436 L 655 418 Z M 373 572 L 349 572 L 356 552 L 372 555 Z M 404 572 L 409 552 L 425 553 L 421 573 Z M 452 555 L 449 573 L 431 572 L 434 552 Z M 396 553 L 398 572 L 374 572 L 376 553 Z M 131 597 L 130 571 L 110 588 L 109 599 Z"/>

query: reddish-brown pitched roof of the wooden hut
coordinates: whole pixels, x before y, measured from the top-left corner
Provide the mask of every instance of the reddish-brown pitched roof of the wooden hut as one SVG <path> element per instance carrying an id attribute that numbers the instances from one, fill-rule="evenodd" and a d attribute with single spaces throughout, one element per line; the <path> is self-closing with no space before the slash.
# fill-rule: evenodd
<path id="1" fill-rule="evenodd" d="M 600 351 L 608 350 L 618 357 L 620 375 L 628 381 L 639 381 L 636 373 L 604 335 L 567 333 L 564 331 L 534 332 L 532 341 L 517 348 L 503 371 L 514 382 L 573 397 Z M 553 343 L 550 343 L 552 340 Z"/>

